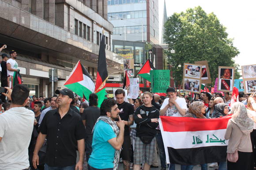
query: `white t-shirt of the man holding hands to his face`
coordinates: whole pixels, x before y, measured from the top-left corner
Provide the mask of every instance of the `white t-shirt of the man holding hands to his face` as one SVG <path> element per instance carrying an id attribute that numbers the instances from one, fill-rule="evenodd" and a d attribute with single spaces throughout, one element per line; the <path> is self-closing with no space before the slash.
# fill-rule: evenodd
<path id="1" fill-rule="evenodd" d="M 187 103 L 184 98 L 179 98 L 175 100 L 177 104 L 181 107 L 181 109 L 186 109 L 187 110 Z M 169 104 L 169 98 L 166 98 L 160 108 L 160 110 L 164 109 L 166 105 Z M 174 116 L 174 117 L 182 117 L 182 115 L 178 112 L 178 109 L 175 105 L 172 105 L 166 110 L 166 113 L 164 116 Z"/>

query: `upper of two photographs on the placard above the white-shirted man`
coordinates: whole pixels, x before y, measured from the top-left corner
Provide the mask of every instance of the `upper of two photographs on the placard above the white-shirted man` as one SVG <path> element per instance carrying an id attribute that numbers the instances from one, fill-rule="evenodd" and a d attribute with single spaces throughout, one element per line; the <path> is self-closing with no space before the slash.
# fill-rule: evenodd
<path id="1" fill-rule="evenodd" d="M 201 78 L 202 65 L 184 63 L 184 77 Z"/>

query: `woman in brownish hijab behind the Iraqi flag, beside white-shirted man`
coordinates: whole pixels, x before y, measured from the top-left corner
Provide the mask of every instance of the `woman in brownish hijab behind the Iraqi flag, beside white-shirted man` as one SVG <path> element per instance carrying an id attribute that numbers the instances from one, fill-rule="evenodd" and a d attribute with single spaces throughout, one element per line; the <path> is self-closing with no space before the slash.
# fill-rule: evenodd
<path id="1" fill-rule="evenodd" d="M 188 113 L 183 117 L 192 117 L 198 119 L 207 119 L 203 114 L 205 114 L 205 107 L 202 101 L 194 101 L 190 104 L 188 108 Z M 192 170 L 194 165 L 181 165 L 181 170 Z M 207 163 L 201 164 L 201 170 L 207 170 Z"/>

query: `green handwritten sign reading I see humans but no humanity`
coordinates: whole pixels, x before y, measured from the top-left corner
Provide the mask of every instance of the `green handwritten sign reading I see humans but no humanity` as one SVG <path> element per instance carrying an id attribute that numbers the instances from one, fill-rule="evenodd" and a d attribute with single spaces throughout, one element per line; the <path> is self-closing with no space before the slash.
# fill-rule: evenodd
<path id="1" fill-rule="evenodd" d="M 169 70 L 151 70 L 151 87 L 153 93 L 165 93 L 170 86 Z"/>

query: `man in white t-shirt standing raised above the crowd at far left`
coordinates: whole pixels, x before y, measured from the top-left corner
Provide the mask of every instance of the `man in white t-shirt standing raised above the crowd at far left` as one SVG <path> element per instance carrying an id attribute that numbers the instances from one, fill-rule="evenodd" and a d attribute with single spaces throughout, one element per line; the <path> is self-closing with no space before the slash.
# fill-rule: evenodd
<path id="1" fill-rule="evenodd" d="M 11 55 L 11 58 L 9 58 L 7 60 L 6 67 L 7 67 L 7 76 L 8 76 L 8 79 L 7 79 L 8 80 L 8 87 L 12 88 L 12 81 L 13 81 L 14 72 L 19 72 L 19 69 L 18 69 L 18 63 L 15 60 L 17 58 L 16 51 L 11 50 L 10 55 Z"/>

